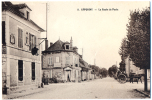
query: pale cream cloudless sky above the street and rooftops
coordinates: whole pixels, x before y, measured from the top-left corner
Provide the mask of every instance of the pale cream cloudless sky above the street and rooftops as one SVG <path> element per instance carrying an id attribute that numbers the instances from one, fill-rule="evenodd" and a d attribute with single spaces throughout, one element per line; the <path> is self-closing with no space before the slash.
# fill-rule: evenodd
<path id="1" fill-rule="evenodd" d="M 88 64 L 108 69 L 121 61 L 119 48 L 126 37 L 126 25 L 130 11 L 145 9 L 149 1 L 48 1 L 12 2 L 26 3 L 31 9 L 30 18 L 46 30 L 47 39 L 55 43 L 58 39 L 78 47 L 79 54 Z M 90 8 L 91 11 L 82 10 Z M 79 9 L 79 11 L 78 11 Z M 107 10 L 106 10 L 107 9 Z M 111 9 L 111 10 L 110 10 Z M 114 10 L 115 9 L 115 10 Z M 46 33 L 41 33 L 46 37 Z M 50 44 L 50 43 L 49 43 Z M 44 43 L 42 50 L 44 50 Z"/>

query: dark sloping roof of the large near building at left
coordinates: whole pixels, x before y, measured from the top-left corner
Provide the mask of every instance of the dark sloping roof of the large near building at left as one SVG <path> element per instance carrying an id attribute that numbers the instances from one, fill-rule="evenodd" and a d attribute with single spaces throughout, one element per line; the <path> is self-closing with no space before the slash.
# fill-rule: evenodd
<path id="1" fill-rule="evenodd" d="M 29 23 L 33 24 L 37 28 L 39 28 L 39 31 L 44 32 L 45 30 L 42 29 L 40 26 L 38 26 L 35 22 L 33 22 L 31 19 L 28 20 L 24 17 L 24 14 L 19 11 L 19 9 L 27 7 L 29 10 L 31 10 L 25 3 L 24 4 L 12 4 L 10 1 L 2 2 L 2 11 L 10 11 L 14 13 L 15 15 L 21 17 L 22 19 L 28 21 Z"/>

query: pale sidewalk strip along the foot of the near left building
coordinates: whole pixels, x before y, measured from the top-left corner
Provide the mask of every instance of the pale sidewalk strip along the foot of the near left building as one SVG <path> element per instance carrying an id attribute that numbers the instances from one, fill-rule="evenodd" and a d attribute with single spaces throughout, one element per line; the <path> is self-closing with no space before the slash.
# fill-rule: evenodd
<path id="1" fill-rule="evenodd" d="M 51 84 L 49 84 L 49 85 L 51 85 Z M 23 97 L 23 96 L 27 96 L 27 95 L 40 93 L 43 91 L 50 90 L 49 85 L 44 85 L 44 88 L 28 89 L 28 90 L 24 90 L 24 91 L 17 92 L 17 93 L 12 93 L 9 95 L 2 95 L 2 98 L 3 99 L 15 99 L 15 98 L 19 98 L 19 97 Z"/>

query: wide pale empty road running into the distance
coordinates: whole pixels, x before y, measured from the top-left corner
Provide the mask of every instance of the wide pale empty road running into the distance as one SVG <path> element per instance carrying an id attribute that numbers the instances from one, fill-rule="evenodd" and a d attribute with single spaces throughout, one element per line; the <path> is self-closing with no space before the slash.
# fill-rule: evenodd
<path id="1" fill-rule="evenodd" d="M 130 99 L 145 98 L 133 89 L 143 89 L 143 83 L 120 84 L 113 78 L 104 78 L 81 83 L 50 84 L 45 92 L 18 99 Z"/>

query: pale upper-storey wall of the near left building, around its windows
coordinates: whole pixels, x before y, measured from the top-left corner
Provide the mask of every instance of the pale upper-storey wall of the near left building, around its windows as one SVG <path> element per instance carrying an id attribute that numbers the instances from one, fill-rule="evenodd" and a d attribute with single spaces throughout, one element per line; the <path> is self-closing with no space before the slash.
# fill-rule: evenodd
<path id="1" fill-rule="evenodd" d="M 18 48 L 18 28 L 21 28 L 23 30 L 23 48 Z M 38 45 L 40 43 L 40 40 L 38 39 L 38 38 L 40 38 L 40 33 L 29 28 L 28 26 L 24 25 L 23 23 L 15 20 L 14 18 L 9 17 L 9 36 L 11 34 L 15 35 L 15 44 L 12 44 L 10 42 L 8 44 L 9 46 L 11 46 L 10 54 L 14 55 L 14 56 L 35 59 L 35 60 L 40 61 L 40 56 L 33 56 L 31 54 L 31 51 L 29 50 L 29 46 L 25 44 L 26 32 L 29 32 L 36 36 L 36 42 L 37 42 L 36 45 Z M 10 39 L 10 37 L 7 37 L 7 38 Z M 28 36 L 28 40 L 29 40 L 29 36 Z M 40 50 L 38 51 L 38 54 L 40 54 Z"/>

